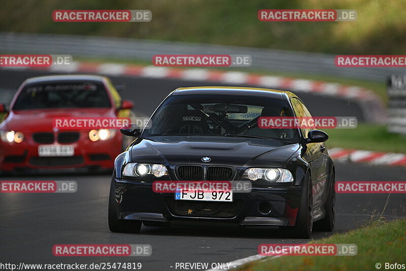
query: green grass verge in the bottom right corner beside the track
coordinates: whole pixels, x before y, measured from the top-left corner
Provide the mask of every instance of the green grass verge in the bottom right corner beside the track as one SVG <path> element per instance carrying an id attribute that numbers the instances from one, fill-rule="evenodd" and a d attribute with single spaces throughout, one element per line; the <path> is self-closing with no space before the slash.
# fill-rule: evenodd
<path id="1" fill-rule="evenodd" d="M 240 271 L 264 270 L 377 270 L 376 263 L 405 264 L 406 220 L 385 223 L 378 220 L 368 226 L 345 233 L 337 233 L 328 238 L 315 240 L 317 244 L 356 244 L 355 256 L 282 256 L 267 258 L 264 261 L 248 263 L 238 268 Z"/>

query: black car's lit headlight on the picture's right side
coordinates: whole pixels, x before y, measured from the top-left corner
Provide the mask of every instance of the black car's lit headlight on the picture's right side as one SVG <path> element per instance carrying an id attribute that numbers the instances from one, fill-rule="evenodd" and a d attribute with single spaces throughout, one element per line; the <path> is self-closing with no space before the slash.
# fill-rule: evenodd
<path id="1" fill-rule="evenodd" d="M 274 167 L 251 167 L 247 168 L 243 174 L 244 179 L 250 180 L 267 180 L 276 183 L 291 183 L 293 175 L 289 170 Z"/>

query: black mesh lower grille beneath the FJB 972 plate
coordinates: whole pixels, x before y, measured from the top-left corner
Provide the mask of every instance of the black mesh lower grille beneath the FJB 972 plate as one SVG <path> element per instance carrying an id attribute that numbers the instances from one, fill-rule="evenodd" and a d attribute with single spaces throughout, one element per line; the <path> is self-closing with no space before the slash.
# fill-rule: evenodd
<path id="1" fill-rule="evenodd" d="M 233 218 L 243 206 L 242 200 L 233 202 L 210 202 L 176 200 L 165 198 L 166 206 L 174 216 L 205 217 L 205 218 Z"/>

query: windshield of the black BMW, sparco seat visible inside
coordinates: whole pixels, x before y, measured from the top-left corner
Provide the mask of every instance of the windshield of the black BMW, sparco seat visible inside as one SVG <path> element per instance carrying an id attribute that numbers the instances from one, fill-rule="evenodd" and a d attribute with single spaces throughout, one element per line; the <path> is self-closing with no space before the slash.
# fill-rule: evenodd
<path id="1" fill-rule="evenodd" d="M 297 129 L 262 129 L 261 116 L 293 116 L 288 101 L 233 95 L 175 95 L 156 110 L 142 137 L 232 136 L 298 142 Z"/>

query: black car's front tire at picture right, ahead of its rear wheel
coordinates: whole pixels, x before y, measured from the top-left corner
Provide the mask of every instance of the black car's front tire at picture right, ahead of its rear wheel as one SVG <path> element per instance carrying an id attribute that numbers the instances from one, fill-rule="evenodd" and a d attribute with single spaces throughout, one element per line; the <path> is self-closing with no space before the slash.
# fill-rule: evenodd
<path id="1" fill-rule="evenodd" d="M 279 227 L 285 238 L 310 238 L 313 230 L 313 191 L 309 173 L 306 175 L 296 225 Z"/>

